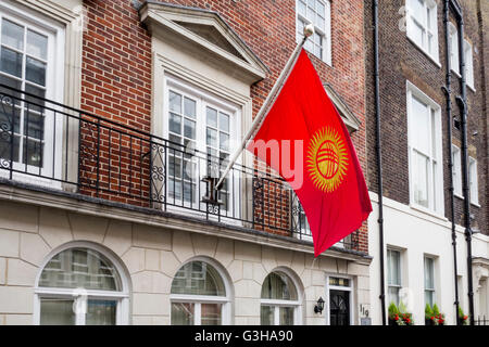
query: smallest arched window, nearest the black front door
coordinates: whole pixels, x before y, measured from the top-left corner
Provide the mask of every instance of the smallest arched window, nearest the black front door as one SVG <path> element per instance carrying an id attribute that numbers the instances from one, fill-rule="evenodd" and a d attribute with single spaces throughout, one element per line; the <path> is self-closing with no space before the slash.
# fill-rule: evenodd
<path id="1" fill-rule="evenodd" d="M 297 285 L 283 271 L 274 271 L 263 282 L 261 299 L 262 325 L 300 323 L 300 300 Z"/>

